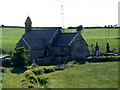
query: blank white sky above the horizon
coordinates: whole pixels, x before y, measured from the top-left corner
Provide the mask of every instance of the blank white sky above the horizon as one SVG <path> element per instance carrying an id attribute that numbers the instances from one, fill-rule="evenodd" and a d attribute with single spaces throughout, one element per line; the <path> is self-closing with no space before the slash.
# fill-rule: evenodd
<path id="1" fill-rule="evenodd" d="M 119 0 L 0 0 L 0 25 L 24 26 L 27 16 L 32 26 L 104 26 L 118 23 Z"/>

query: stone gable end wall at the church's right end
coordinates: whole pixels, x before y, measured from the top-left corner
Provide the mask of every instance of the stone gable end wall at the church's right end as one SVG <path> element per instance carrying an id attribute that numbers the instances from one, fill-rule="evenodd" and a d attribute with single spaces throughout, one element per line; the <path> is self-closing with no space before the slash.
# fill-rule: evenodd
<path id="1" fill-rule="evenodd" d="M 70 45 L 71 58 L 84 58 L 89 56 L 88 45 L 80 34 L 77 34 L 76 38 Z"/>

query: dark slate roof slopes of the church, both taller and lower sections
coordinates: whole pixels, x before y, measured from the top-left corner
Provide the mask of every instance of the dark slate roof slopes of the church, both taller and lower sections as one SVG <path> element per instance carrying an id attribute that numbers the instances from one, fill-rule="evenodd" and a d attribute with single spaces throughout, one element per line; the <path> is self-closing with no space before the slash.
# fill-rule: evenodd
<path id="1" fill-rule="evenodd" d="M 31 49 L 45 49 L 45 45 L 52 40 L 58 30 L 32 30 L 22 37 Z M 68 46 L 77 33 L 60 33 L 54 46 Z"/>

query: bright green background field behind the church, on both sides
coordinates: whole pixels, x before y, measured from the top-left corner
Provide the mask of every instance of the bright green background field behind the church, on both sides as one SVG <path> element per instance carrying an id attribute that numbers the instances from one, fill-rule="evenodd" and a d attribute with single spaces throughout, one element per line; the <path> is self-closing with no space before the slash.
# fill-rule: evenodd
<path id="1" fill-rule="evenodd" d="M 118 38 L 118 31 L 119 29 L 84 29 L 81 34 L 87 42 L 89 50 L 91 44 L 95 47 L 96 42 L 98 42 L 100 52 L 103 53 L 106 51 L 106 43 L 108 42 L 110 50 L 116 48 L 116 51 L 118 52 L 118 39 L 115 39 Z M 64 32 L 76 32 L 76 30 L 65 29 Z M 23 28 L 3 28 L 2 48 L 6 52 L 13 50 L 23 34 Z"/>

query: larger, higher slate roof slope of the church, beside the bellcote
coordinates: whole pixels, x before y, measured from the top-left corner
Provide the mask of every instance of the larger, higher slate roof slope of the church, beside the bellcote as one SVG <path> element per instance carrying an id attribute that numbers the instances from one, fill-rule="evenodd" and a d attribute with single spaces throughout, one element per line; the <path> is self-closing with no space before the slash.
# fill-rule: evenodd
<path id="1" fill-rule="evenodd" d="M 23 39 L 31 49 L 44 49 L 57 30 L 32 30 L 23 35 Z"/>

